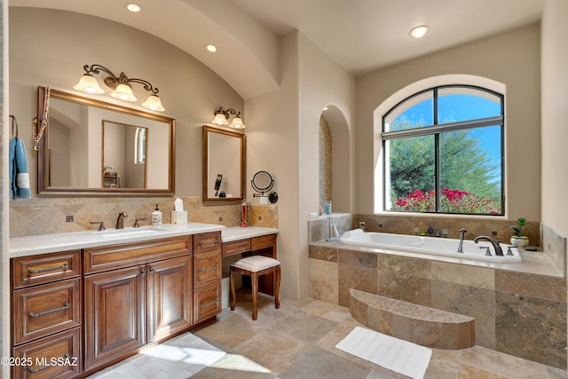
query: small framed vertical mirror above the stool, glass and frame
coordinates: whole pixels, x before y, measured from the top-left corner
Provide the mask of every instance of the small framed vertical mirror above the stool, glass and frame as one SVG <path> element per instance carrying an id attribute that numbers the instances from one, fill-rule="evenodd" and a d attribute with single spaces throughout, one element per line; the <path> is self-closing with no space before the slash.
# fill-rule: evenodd
<path id="1" fill-rule="evenodd" d="M 240 203 L 245 176 L 245 135 L 203 125 L 203 204 Z"/>

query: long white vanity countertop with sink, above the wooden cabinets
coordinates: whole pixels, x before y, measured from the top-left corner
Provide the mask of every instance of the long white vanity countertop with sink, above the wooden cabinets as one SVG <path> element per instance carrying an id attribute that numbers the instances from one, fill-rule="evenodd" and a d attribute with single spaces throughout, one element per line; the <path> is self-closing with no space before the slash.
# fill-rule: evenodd
<path id="1" fill-rule="evenodd" d="M 225 227 L 223 225 L 187 223 L 184 225 L 165 224 L 160 226 L 141 226 L 139 228 L 107 229 L 106 231 L 83 231 L 71 233 L 53 233 L 14 237 L 10 239 L 10 257 L 27 257 L 37 254 L 54 253 L 74 249 L 96 248 L 156 238 L 176 237 L 196 233 L 221 231 L 222 241 L 238 241 L 278 233 L 278 229 L 259 226 Z"/>

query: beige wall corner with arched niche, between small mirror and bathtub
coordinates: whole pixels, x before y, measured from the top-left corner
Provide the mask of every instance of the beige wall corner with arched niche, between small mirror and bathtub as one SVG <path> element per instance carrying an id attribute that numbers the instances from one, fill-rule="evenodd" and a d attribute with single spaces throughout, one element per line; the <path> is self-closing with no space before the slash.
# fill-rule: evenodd
<path id="1" fill-rule="evenodd" d="M 280 57 L 280 89 L 245 102 L 248 177 L 258 170 L 275 176 L 282 296 L 299 300 L 308 296 L 306 225 L 319 211 L 319 117 L 327 105 L 343 114 L 343 186 L 349 189 L 355 80 L 297 31 L 281 39 Z"/>

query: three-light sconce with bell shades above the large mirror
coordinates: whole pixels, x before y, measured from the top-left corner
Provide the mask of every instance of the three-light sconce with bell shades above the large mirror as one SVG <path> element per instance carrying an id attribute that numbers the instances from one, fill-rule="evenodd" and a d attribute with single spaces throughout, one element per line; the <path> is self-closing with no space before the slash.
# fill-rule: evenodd
<path id="1" fill-rule="evenodd" d="M 142 103 L 142 107 L 151 109 L 153 111 L 161 111 L 163 112 L 165 109 L 162 107 L 162 101 L 158 98 L 158 89 L 154 88 L 151 83 L 147 82 L 143 79 L 130 79 L 124 73 L 121 75 L 116 76 L 113 74 L 111 70 L 108 68 L 94 64 L 94 65 L 84 65 L 83 69 L 85 70 L 85 74 L 81 77 L 79 83 L 75 84 L 73 88 L 77 91 L 83 91 L 88 93 L 105 93 L 102 88 L 99 86 L 99 82 L 93 76 L 93 74 L 100 74 L 100 71 L 106 72 L 106 74 L 110 76 L 106 76 L 105 84 L 106 86 L 112 88 L 114 91 L 110 94 L 113 98 L 121 99 L 125 101 L 136 101 L 134 94 L 132 93 L 132 87 L 130 83 L 140 83 L 144 86 L 146 91 L 152 92 L 148 99 L 144 103 Z"/>

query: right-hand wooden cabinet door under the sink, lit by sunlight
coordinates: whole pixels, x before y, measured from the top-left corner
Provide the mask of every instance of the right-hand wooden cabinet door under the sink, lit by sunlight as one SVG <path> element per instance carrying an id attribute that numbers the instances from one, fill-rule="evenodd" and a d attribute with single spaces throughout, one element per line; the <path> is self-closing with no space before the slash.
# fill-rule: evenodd
<path id="1" fill-rule="evenodd" d="M 148 265 L 148 343 L 192 325 L 192 257 Z"/>

